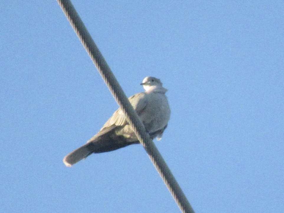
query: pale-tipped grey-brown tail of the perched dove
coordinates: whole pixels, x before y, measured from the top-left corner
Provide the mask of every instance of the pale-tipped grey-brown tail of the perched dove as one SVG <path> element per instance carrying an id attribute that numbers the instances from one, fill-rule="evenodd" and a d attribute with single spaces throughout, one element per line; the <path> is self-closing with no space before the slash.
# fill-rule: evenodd
<path id="1" fill-rule="evenodd" d="M 78 161 L 88 157 L 93 153 L 91 149 L 91 144 L 87 143 L 80 148 L 74 150 L 73 152 L 69 153 L 63 159 L 65 166 L 72 166 L 73 164 L 77 163 Z"/>

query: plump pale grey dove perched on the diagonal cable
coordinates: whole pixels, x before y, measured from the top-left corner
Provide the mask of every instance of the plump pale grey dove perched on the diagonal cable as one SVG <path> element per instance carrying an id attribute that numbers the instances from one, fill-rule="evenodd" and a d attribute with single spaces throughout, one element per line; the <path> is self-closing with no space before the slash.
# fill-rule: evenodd
<path id="1" fill-rule="evenodd" d="M 145 92 L 129 97 L 129 102 L 137 112 L 150 138 L 157 140 L 168 126 L 170 106 L 165 93 L 168 91 L 162 86 L 160 79 L 147 76 L 140 85 Z M 65 166 L 70 167 L 85 159 L 92 153 L 113 151 L 131 144 L 138 144 L 132 127 L 127 122 L 124 113 L 119 108 L 107 120 L 101 130 L 80 148 L 66 155 L 63 159 Z"/>

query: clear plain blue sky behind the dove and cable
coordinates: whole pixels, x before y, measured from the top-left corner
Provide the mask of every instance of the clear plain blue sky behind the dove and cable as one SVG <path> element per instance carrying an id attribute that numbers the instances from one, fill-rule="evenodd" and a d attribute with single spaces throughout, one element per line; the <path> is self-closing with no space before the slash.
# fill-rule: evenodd
<path id="1" fill-rule="evenodd" d="M 75 1 L 127 96 L 160 78 L 158 149 L 196 212 L 284 212 L 283 1 Z M 179 212 L 141 145 L 63 157 L 117 104 L 54 1 L 0 2 L 0 212 Z"/>

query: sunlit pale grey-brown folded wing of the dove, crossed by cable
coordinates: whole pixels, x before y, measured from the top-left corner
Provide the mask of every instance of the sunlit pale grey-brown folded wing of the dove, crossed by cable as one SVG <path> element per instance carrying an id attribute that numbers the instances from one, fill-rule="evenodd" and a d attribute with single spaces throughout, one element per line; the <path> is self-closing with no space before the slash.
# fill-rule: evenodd
<path id="1" fill-rule="evenodd" d="M 143 109 L 148 104 L 147 93 L 137 93 L 131 97 L 129 97 L 130 104 L 133 106 L 134 110 L 137 114 L 141 114 Z M 104 129 L 108 129 L 108 127 L 112 126 L 124 126 L 126 125 L 127 119 L 124 116 L 122 110 L 119 108 L 114 112 L 114 114 L 109 118 L 109 120 L 104 124 L 100 131 L 104 131 Z"/>

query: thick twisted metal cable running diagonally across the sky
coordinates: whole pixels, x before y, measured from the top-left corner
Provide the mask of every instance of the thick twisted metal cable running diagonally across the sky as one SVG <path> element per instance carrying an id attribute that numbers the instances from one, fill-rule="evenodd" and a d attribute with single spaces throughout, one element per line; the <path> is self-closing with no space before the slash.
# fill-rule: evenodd
<path id="1" fill-rule="evenodd" d="M 93 63 L 96 65 L 96 68 L 109 87 L 111 94 L 114 96 L 119 107 L 122 109 L 124 115 L 127 118 L 127 121 L 133 128 L 135 135 L 145 148 L 147 154 L 149 155 L 149 158 L 151 159 L 152 163 L 159 172 L 176 203 L 178 204 L 178 207 L 184 213 L 194 212 L 178 182 L 175 180 L 175 177 L 165 163 L 165 160 L 162 158 L 162 155 L 158 151 L 153 141 L 150 139 L 149 134 L 146 132 L 144 124 L 141 122 L 136 111 L 129 103 L 127 96 L 117 82 L 114 74 L 111 72 L 111 69 L 104 60 L 104 57 L 100 53 L 98 47 L 96 46 L 91 35 L 83 24 L 74 6 L 69 0 L 57 1 L 74 31 L 76 32 L 77 36 L 79 37 L 80 41 L 82 42 L 83 46 L 85 47 L 88 55 L 91 57 Z"/>

